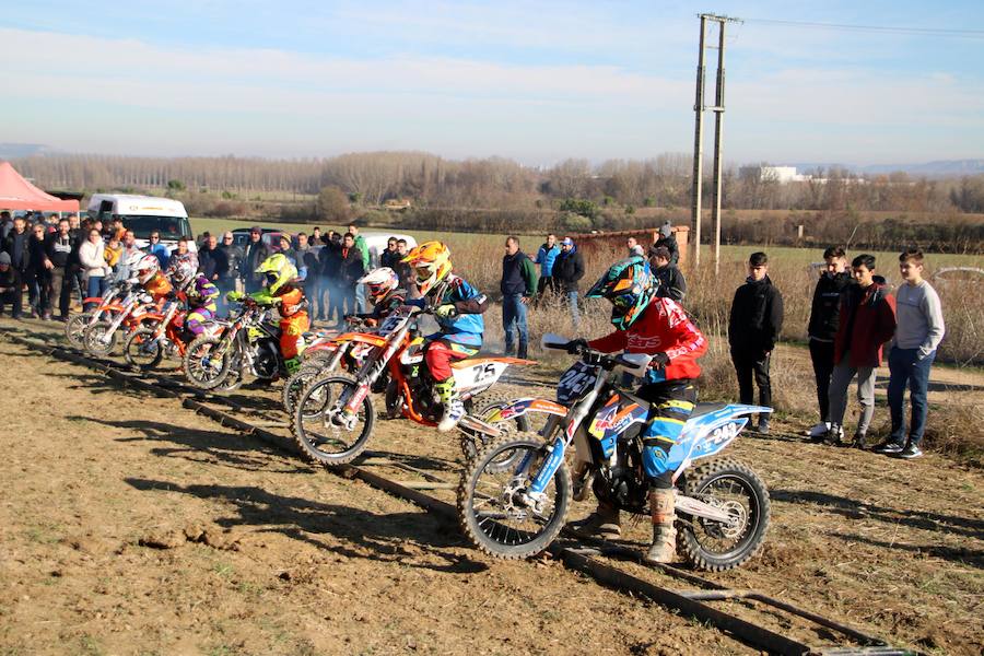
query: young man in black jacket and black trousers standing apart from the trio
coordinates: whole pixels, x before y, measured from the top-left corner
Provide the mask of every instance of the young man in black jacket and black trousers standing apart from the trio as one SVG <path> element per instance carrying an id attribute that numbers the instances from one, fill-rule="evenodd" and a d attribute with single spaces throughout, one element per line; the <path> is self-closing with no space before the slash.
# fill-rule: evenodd
<path id="1" fill-rule="evenodd" d="M 752 253 L 748 258 L 748 279 L 735 292 L 728 320 L 728 343 L 742 403 L 752 402 L 754 375 L 759 405 L 772 407 L 769 364 L 782 328 L 783 296 L 769 279 L 769 257 L 764 253 Z M 759 432 L 769 433 L 768 414 L 759 415 Z"/>

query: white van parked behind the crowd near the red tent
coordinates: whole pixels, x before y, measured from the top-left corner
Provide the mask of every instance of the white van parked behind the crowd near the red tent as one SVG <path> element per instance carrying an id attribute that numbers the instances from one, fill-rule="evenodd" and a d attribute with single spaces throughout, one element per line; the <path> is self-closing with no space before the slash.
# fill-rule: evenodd
<path id="1" fill-rule="evenodd" d="M 145 248 L 152 232 L 161 233 L 167 250 L 177 247 L 179 237 L 188 237 L 188 248 L 195 250 L 188 212 L 179 200 L 129 194 L 93 194 L 89 200 L 89 215 L 104 224 L 122 219 L 124 226 L 137 236 L 137 246 Z"/>

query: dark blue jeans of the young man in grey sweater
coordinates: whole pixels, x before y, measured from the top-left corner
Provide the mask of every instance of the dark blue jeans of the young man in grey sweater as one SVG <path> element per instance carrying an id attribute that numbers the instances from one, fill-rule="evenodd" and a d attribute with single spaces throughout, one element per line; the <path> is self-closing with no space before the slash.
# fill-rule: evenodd
<path id="1" fill-rule="evenodd" d="M 909 386 L 909 402 L 912 417 L 909 425 L 909 443 L 918 446 L 926 430 L 926 411 L 929 391 L 929 367 L 936 359 L 933 351 L 918 360 L 918 349 L 892 347 L 889 352 L 889 411 L 892 415 L 892 435 L 895 444 L 905 443 L 905 386 Z"/>

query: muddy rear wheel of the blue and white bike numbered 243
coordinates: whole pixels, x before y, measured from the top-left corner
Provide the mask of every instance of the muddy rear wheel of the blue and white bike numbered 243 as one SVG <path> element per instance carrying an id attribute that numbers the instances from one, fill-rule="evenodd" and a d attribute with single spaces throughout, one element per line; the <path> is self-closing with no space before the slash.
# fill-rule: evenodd
<path id="1" fill-rule="evenodd" d="M 678 517 L 678 547 L 693 566 L 721 572 L 741 565 L 759 552 L 769 528 L 769 491 L 748 465 L 731 458 L 700 465 L 687 472 L 683 492 L 730 516 L 727 524 L 689 515 Z"/>

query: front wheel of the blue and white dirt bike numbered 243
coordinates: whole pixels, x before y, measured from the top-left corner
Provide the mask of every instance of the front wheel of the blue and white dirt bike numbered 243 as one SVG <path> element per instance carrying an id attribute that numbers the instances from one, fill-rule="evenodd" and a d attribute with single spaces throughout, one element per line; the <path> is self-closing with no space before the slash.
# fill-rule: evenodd
<path id="1" fill-rule="evenodd" d="M 465 535 L 490 555 L 520 559 L 547 549 L 564 527 L 571 475 L 561 461 L 541 494 L 529 487 L 549 454 L 536 434 L 500 440 L 466 464 L 458 485 L 458 520 Z M 501 462 L 518 462 L 504 469 Z"/>

